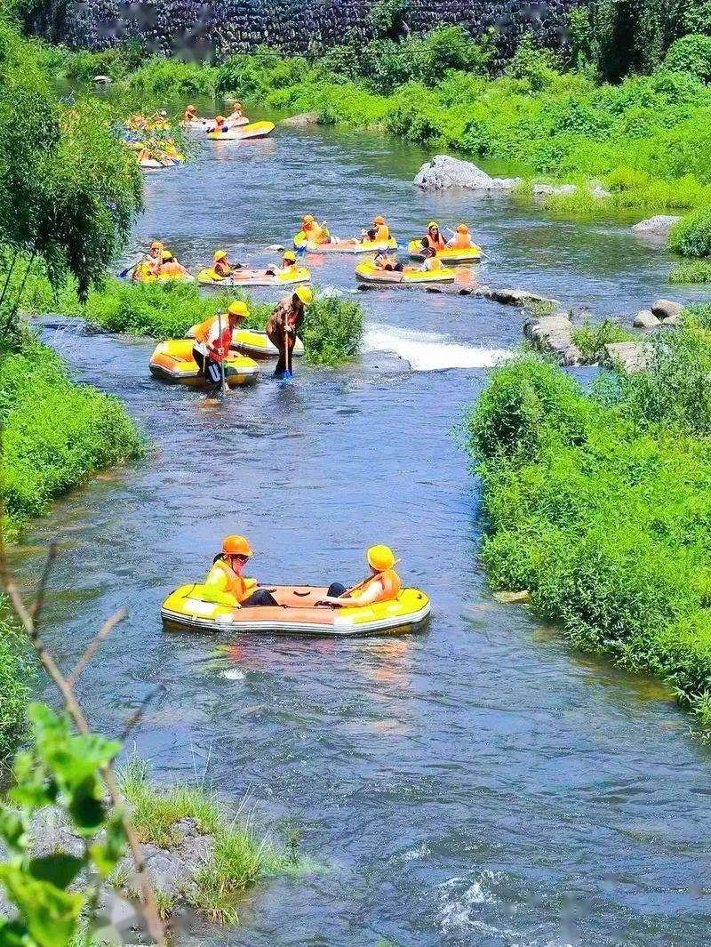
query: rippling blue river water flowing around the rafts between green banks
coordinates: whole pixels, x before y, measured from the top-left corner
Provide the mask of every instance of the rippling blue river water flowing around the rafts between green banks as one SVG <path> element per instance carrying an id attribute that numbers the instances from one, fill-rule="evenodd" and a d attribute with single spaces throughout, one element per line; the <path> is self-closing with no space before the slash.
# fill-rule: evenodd
<path id="1" fill-rule="evenodd" d="M 148 179 L 126 259 L 156 236 L 193 269 L 219 244 L 270 259 L 304 212 L 342 236 L 383 212 L 401 238 L 432 217 L 468 220 L 491 285 L 598 315 L 668 295 L 670 261 L 631 221 L 560 223 L 505 197 L 418 193 L 417 149 L 324 130 L 211 148 Z M 319 283 L 353 290 L 352 258 L 311 265 Z M 218 407 L 152 382 L 151 341 L 44 329 L 152 444 L 63 499 L 17 550 L 29 577 L 60 540 L 52 648 L 70 666 L 126 604 L 80 684 L 93 723 L 120 731 L 164 685 L 134 738 L 155 776 L 197 772 L 235 804 L 249 795 L 259 822 L 277 837 L 296 827 L 321 865 L 259 884 L 238 930 L 184 941 L 707 943 L 708 751 L 663 688 L 497 604 L 477 560 L 477 485 L 453 429 L 483 366 L 519 341 L 521 314 L 418 291 L 359 298 L 365 348 L 416 370 L 297 366 L 295 384 L 265 377 Z M 232 531 L 250 538 L 264 581 L 357 580 L 367 545 L 393 545 L 403 578 L 432 596 L 429 627 L 335 642 L 165 634 L 162 599 L 203 576 Z"/>

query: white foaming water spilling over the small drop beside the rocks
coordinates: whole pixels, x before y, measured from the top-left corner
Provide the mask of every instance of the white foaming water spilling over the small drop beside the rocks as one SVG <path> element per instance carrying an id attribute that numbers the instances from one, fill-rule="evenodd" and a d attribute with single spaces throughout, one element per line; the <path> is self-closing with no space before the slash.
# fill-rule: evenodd
<path id="1" fill-rule="evenodd" d="M 507 359 L 507 348 L 477 348 L 452 342 L 435 332 L 418 332 L 371 324 L 363 340 L 364 351 L 393 351 L 415 371 L 443 368 L 490 368 Z"/>

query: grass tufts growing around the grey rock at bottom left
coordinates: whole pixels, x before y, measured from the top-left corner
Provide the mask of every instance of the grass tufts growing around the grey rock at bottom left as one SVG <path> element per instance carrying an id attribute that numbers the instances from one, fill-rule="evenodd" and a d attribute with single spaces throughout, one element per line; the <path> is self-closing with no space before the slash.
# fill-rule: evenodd
<path id="1" fill-rule="evenodd" d="M 243 810 L 228 813 L 217 795 L 203 786 L 185 783 L 155 787 L 149 781 L 149 766 L 133 757 L 120 771 L 123 794 L 131 806 L 133 824 L 142 842 L 161 848 L 180 843 L 177 828 L 182 819 L 192 819 L 200 832 L 213 838 L 210 857 L 200 867 L 184 892 L 185 900 L 210 920 L 224 924 L 238 922 L 236 901 L 241 892 L 259 878 L 276 873 L 292 873 L 300 867 L 295 841 L 276 847 L 259 834 L 252 817 Z M 306 866 L 310 869 L 310 866 Z M 119 884 L 125 884 L 121 879 Z M 175 899 L 168 904 L 169 913 Z"/>

